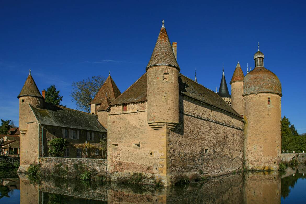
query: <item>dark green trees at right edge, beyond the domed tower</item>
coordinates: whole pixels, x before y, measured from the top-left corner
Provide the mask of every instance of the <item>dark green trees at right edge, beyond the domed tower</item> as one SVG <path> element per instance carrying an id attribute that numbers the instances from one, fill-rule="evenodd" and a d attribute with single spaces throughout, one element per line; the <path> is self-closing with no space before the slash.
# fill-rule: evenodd
<path id="1" fill-rule="evenodd" d="M 306 135 L 299 135 L 289 118 L 282 118 L 282 150 L 285 152 L 306 152 Z"/>

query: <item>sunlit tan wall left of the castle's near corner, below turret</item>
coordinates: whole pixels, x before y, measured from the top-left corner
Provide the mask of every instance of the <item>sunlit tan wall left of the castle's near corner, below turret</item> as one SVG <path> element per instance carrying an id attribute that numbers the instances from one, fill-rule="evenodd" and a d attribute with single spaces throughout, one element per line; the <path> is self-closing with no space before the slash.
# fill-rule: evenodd
<path id="1" fill-rule="evenodd" d="M 167 183 L 167 128 L 153 130 L 147 124 L 146 102 L 128 104 L 127 111 L 122 106 L 111 107 L 107 129 L 109 172 L 154 173 Z"/>

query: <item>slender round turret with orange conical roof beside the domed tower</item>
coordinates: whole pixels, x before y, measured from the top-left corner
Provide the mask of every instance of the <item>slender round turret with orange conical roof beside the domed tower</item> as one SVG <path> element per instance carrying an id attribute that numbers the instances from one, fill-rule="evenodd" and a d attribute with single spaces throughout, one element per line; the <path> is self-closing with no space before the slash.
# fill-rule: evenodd
<path id="1" fill-rule="evenodd" d="M 232 80 L 230 81 L 231 85 L 231 94 L 232 94 L 232 103 L 231 106 L 234 110 L 237 111 L 241 116 L 243 116 L 243 101 L 242 101 L 242 87 L 244 82 L 244 75 L 239 64 L 237 63 L 236 69 L 234 71 Z"/>

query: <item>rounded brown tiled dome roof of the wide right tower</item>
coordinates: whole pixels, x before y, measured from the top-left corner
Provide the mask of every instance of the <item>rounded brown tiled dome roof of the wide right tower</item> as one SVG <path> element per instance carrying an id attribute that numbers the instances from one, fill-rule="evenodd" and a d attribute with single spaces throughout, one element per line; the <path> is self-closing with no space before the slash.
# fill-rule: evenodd
<path id="1" fill-rule="evenodd" d="M 244 77 L 243 94 L 277 93 L 282 96 L 282 84 L 271 71 L 260 66 L 255 67 Z"/>

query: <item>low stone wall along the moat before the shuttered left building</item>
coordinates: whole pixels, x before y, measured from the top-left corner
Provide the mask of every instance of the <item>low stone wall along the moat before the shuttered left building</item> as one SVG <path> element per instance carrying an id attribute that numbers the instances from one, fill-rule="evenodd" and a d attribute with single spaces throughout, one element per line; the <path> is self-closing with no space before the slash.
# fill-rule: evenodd
<path id="1" fill-rule="evenodd" d="M 52 170 L 54 165 L 62 164 L 68 171 L 73 171 L 74 164 L 82 164 L 88 169 L 95 169 L 98 173 L 107 172 L 107 159 L 84 159 L 84 158 L 59 158 L 59 157 L 39 157 L 42 168 Z"/>

